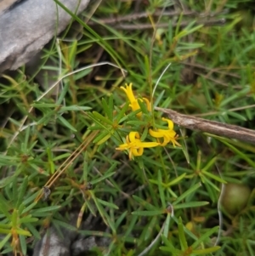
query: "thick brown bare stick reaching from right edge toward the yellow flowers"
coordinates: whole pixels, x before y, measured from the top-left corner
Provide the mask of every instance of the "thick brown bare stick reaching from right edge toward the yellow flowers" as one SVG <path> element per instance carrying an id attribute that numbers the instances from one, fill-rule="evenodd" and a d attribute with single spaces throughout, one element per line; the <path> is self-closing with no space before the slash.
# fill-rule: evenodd
<path id="1" fill-rule="evenodd" d="M 227 137 L 230 139 L 240 139 L 255 145 L 255 131 L 247 128 L 241 128 L 236 125 L 226 124 L 222 122 L 209 121 L 199 117 L 190 117 L 180 114 L 177 111 L 155 108 L 156 111 L 164 112 L 170 117 L 174 123 L 189 128 L 191 130 L 199 130 L 210 134 Z"/>

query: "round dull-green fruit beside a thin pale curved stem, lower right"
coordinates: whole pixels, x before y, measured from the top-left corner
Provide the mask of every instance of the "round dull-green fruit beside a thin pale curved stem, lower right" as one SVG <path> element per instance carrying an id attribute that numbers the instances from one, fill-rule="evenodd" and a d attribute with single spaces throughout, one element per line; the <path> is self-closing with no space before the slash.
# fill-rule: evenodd
<path id="1" fill-rule="evenodd" d="M 251 190 L 242 184 L 229 183 L 224 187 L 222 206 L 230 215 L 240 213 L 246 207 Z"/>

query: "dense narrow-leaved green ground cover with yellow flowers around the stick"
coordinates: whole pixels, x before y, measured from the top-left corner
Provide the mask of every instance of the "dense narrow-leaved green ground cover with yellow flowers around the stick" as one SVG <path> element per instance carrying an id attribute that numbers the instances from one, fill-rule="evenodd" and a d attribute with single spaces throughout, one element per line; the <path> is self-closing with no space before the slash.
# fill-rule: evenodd
<path id="1" fill-rule="evenodd" d="M 252 8 L 93 1 L 43 50 L 43 84 L 3 74 L 1 252 L 53 225 L 107 237 L 91 255 L 255 255 L 254 145 L 156 111 L 254 129 Z"/>

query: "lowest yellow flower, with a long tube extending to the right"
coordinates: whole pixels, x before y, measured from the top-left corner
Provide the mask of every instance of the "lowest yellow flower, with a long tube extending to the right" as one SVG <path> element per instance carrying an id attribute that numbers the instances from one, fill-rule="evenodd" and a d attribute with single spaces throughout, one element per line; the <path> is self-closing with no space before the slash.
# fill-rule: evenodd
<path id="1" fill-rule="evenodd" d="M 126 137 L 126 143 L 119 145 L 116 148 L 117 151 L 129 151 L 129 159 L 132 156 L 142 156 L 144 153 L 144 148 L 155 147 L 160 145 L 157 142 L 142 142 L 140 140 L 140 136 L 138 132 L 130 132 L 129 135 Z"/>

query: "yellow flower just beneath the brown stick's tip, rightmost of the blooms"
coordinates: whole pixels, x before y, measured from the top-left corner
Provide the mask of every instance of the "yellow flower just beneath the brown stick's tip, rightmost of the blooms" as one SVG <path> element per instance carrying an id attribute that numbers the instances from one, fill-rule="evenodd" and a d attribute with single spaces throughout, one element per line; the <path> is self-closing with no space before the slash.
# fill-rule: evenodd
<path id="1" fill-rule="evenodd" d="M 163 142 L 161 143 L 162 146 L 167 145 L 167 143 L 169 143 L 170 141 L 172 142 L 173 146 L 178 145 L 178 142 L 176 141 L 176 133 L 173 131 L 173 121 L 171 121 L 170 119 L 167 118 L 162 118 L 163 121 L 168 122 L 168 129 L 164 130 L 164 129 L 157 129 L 156 131 L 150 129 L 149 133 L 150 136 L 154 137 L 154 138 L 163 138 Z"/>

